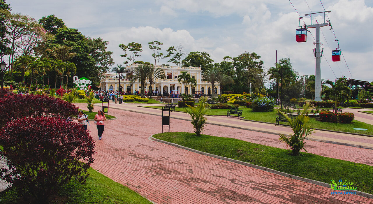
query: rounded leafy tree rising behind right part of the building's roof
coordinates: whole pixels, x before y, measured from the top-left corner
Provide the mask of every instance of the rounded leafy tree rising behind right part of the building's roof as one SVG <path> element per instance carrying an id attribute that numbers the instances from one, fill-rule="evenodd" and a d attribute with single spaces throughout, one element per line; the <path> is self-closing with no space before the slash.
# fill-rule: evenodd
<path id="1" fill-rule="evenodd" d="M 207 52 L 190 52 L 184 60 L 181 61 L 182 66 L 186 67 L 201 67 L 202 71 L 212 68 L 214 60 Z"/>

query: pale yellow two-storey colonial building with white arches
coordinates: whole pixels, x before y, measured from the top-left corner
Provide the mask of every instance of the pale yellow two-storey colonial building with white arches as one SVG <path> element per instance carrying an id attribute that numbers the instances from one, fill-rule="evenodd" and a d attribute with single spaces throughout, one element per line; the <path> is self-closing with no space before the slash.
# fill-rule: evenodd
<path id="1" fill-rule="evenodd" d="M 130 84 L 128 77 L 132 75 L 132 71 L 134 68 L 138 67 L 138 64 L 129 65 L 125 69 L 125 73 L 122 75 L 125 76 L 125 79 L 120 79 L 120 86 L 123 87 L 123 91 L 130 91 L 134 93 L 134 91 L 141 91 L 141 84 L 140 82 L 134 82 Z M 220 94 L 219 83 L 215 82 L 214 87 L 211 87 L 211 83 L 209 81 L 202 80 L 202 69 L 200 67 L 179 67 L 179 66 L 159 66 L 154 65 L 154 69 L 160 68 L 166 74 L 166 78 L 157 79 L 154 84 L 152 85 L 153 91 L 159 91 L 160 94 L 167 93 L 169 94 L 170 91 L 178 90 L 179 94 L 186 93 L 194 94 L 195 91 L 201 91 L 202 94 Z M 188 85 L 188 87 L 184 87 L 184 84 L 178 83 L 178 75 L 180 72 L 186 71 L 188 72 L 192 78 L 197 80 L 197 86 Z M 105 91 L 117 91 L 119 88 L 119 78 L 117 73 L 102 73 L 103 78 L 101 79 L 101 89 Z M 145 90 L 149 91 L 150 85 L 149 81 L 147 81 L 147 88 Z"/>

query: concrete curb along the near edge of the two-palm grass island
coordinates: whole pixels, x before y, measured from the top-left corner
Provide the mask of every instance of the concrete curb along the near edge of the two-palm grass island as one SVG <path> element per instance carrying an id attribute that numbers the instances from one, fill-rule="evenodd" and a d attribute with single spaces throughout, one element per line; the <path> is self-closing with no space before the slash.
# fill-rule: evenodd
<path id="1" fill-rule="evenodd" d="M 274 174 L 277 174 L 277 175 L 280 175 L 280 176 L 289 177 L 289 178 L 296 179 L 296 180 L 299 180 L 299 181 L 304 181 L 304 182 L 307 182 L 307 183 L 316 184 L 316 185 L 323 186 L 323 187 L 326 187 L 326 188 L 329 187 L 328 183 L 324 183 L 324 182 L 321 182 L 321 181 L 315 181 L 315 180 L 303 178 L 303 177 L 300 177 L 300 176 L 291 175 L 291 174 L 288 174 L 288 173 L 285 173 L 285 172 L 280 172 L 278 170 L 269 169 L 267 167 L 258 166 L 258 165 L 255 165 L 255 164 L 250 164 L 250 163 L 247 163 L 245 161 L 230 159 L 230 158 L 227 158 L 227 157 L 222 157 L 222 156 L 218 156 L 218 155 L 215 155 L 215 154 L 210 154 L 210 153 L 206 153 L 206 152 L 203 152 L 203 151 L 194 150 L 194 149 L 189 148 L 189 147 L 184 147 L 184 146 L 181 146 L 181 145 L 178 145 L 178 144 L 175 144 L 175 143 L 171 143 L 171 142 L 167 142 L 167 141 L 164 141 L 164 140 L 161 140 L 161 139 L 156 139 L 156 138 L 153 137 L 153 135 L 149 136 L 149 139 L 153 140 L 153 141 L 157 141 L 157 142 L 162 142 L 164 144 L 173 144 L 172 146 L 174 146 L 174 147 L 179 147 L 179 148 L 182 148 L 184 150 L 192 151 L 192 152 L 197 153 L 197 154 L 202 154 L 202 155 L 214 157 L 216 159 L 230 161 L 230 162 L 233 162 L 233 163 L 236 163 L 236 164 L 242 164 L 244 166 L 253 167 L 254 169 L 260 169 L 260 170 L 263 170 L 263 171 L 266 171 L 266 172 L 274 173 Z M 354 191 L 354 190 L 351 190 L 351 191 Z M 360 195 L 362 197 L 373 199 L 372 194 L 369 194 L 369 193 L 366 193 L 366 192 L 361 192 L 361 191 L 354 191 L 354 192 L 356 192 L 357 195 Z"/>

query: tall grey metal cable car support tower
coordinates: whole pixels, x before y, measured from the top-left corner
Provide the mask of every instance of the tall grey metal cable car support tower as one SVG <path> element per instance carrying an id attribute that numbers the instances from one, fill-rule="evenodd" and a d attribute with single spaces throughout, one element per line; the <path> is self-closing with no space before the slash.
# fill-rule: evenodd
<path id="1" fill-rule="evenodd" d="M 323 55 L 323 50 L 320 52 L 320 47 L 323 45 L 320 42 L 320 28 L 332 24 L 330 21 L 325 21 L 325 15 L 326 13 L 330 13 L 331 11 L 323 11 L 323 12 L 317 12 L 317 13 L 308 13 L 305 14 L 304 16 L 310 16 L 311 18 L 311 25 L 308 25 L 307 28 L 315 28 L 316 29 L 316 40 L 313 42 L 314 45 L 316 45 L 316 49 L 313 50 L 313 54 L 316 58 L 316 81 L 315 81 L 315 101 L 321 101 L 320 98 L 320 92 L 321 92 L 321 68 L 320 68 L 320 61 L 321 57 Z M 318 23 L 317 24 L 312 24 L 312 15 L 318 14 L 318 13 L 323 13 L 324 14 L 324 23 Z M 332 29 L 332 28 L 330 28 Z"/>

